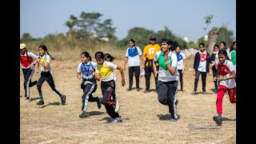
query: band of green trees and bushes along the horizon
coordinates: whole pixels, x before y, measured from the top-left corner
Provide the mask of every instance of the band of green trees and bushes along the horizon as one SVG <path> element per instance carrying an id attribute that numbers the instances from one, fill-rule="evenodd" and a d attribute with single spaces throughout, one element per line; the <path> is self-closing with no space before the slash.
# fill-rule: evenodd
<path id="1" fill-rule="evenodd" d="M 186 43 L 182 38 L 176 36 L 171 32 L 168 27 L 164 26 L 163 30 L 158 30 L 154 32 L 154 30 L 147 30 L 143 27 L 134 27 L 128 31 L 126 38 L 118 40 L 115 36 L 116 28 L 113 27 L 112 20 L 106 19 L 103 22 L 101 21 L 101 17 L 103 14 L 100 13 L 85 13 L 82 12 L 79 17 L 74 15 L 70 15 L 70 19 L 65 22 L 66 26 L 69 27 L 69 30 L 66 34 L 49 34 L 46 35 L 45 38 L 32 38 L 30 34 L 23 34 L 21 38 L 21 42 L 31 42 L 31 41 L 54 41 L 54 39 L 62 39 L 65 38 L 68 44 L 75 45 L 74 42 L 90 41 L 90 44 L 95 44 L 98 42 L 102 42 L 102 38 L 105 38 L 109 44 L 115 45 L 117 47 L 127 47 L 128 41 L 130 38 L 133 38 L 136 42 L 137 46 L 143 48 L 149 42 L 150 35 L 154 35 L 157 38 L 157 42 L 160 42 L 160 38 L 171 38 L 174 41 L 177 41 L 179 45 L 183 49 L 187 49 L 190 47 L 198 48 L 198 43 L 204 42 L 206 46 L 208 41 L 202 36 L 202 38 L 198 38 L 198 42 L 189 42 Z M 209 15 L 206 18 L 206 31 L 207 26 L 210 24 L 210 20 L 213 18 L 213 15 Z M 218 29 L 218 38 L 216 43 L 226 42 L 227 46 L 230 46 L 234 41 L 234 32 L 232 30 L 228 30 L 227 25 L 223 25 Z M 210 36 L 210 32 L 208 33 Z M 60 38 L 56 38 L 60 37 Z"/>

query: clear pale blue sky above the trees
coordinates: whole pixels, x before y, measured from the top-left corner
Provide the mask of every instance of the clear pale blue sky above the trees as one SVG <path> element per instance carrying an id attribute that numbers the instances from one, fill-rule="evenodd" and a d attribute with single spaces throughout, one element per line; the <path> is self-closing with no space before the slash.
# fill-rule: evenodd
<path id="1" fill-rule="evenodd" d="M 196 42 L 204 35 L 205 18 L 213 14 L 207 28 L 227 26 L 236 37 L 235 0 L 21 0 L 20 36 L 29 33 L 33 38 L 68 31 L 65 22 L 70 15 L 79 18 L 82 11 L 101 13 L 101 19 L 112 19 L 118 39 L 125 38 L 128 30 L 144 27 L 164 30 Z"/>

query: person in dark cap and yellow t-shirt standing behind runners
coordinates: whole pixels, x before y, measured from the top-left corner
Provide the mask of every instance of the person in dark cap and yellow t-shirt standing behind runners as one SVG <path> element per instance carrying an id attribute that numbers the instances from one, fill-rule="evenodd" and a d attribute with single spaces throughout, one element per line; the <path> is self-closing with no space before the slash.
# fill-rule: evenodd
<path id="1" fill-rule="evenodd" d="M 145 70 L 145 78 L 146 78 L 146 90 L 144 93 L 150 92 L 150 77 L 151 73 L 153 73 L 153 59 L 154 59 L 154 54 L 156 54 L 158 51 L 161 51 L 160 46 L 155 43 L 156 38 L 154 35 L 150 36 L 150 43 L 144 47 L 143 50 L 143 65 L 142 69 Z M 158 62 L 155 63 L 157 66 L 157 70 L 159 68 Z M 157 81 L 158 81 L 158 75 L 154 77 L 154 83 L 155 83 L 155 90 L 157 90 Z"/>

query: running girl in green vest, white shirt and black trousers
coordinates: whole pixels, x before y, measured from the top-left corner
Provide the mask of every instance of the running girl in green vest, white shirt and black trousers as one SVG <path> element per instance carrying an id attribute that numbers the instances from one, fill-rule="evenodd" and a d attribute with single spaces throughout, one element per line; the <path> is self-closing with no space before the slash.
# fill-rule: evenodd
<path id="1" fill-rule="evenodd" d="M 158 74 L 157 90 L 158 102 L 169 107 L 170 122 L 177 122 L 176 94 L 178 88 L 177 56 L 172 51 L 176 49 L 178 42 L 162 38 L 161 49 L 154 54 L 154 62 L 159 63 L 159 70 L 153 62 L 154 75 Z"/>

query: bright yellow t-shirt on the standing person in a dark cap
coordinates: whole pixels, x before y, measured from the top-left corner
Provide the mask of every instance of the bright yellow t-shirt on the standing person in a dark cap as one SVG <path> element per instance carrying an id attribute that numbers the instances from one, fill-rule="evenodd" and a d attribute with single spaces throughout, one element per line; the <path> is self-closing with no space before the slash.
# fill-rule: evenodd
<path id="1" fill-rule="evenodd" d="M 148 59 L 154 59 L 154 54 L 156 54 L 158 51 L 160 51 L 161 48 L 158 44 L 154 44 L 154 45 L 147 45 L 145 46 L 144 50 L 143 50 L 143 57 L 144 58 L 148 58 Z M 146 66 L 148 66 L 149 62 L 146 62 Z M 158 66 L 158 63 L 156 64 Z"/>

